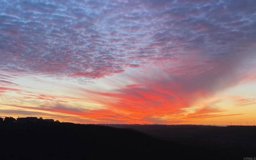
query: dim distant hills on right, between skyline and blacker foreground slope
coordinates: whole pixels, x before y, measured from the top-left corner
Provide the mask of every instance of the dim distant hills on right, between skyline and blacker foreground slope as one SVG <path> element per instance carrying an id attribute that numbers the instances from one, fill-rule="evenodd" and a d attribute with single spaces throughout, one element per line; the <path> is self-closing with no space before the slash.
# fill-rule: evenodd
<path id="1" fill-rule="evenodd" d="M 210 126 L 210 125 L 138 125 L 107 124 L 117 128 L 135 129 L 163 140 L 171 140 L 188 144 L 186 139 L 195 140 L 193 144 L 208 142 L 256 144 L 256 126 Z"/>

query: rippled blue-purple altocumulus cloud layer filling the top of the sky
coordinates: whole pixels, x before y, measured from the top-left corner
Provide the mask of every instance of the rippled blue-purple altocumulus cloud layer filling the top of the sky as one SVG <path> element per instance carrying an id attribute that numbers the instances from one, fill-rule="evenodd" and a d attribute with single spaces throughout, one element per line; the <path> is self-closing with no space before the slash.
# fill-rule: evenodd
<path id="1" fill-rule="evenodd" d="M 0 67 L 99 78 L 126 68 L 203 62 L 256 39 L 251 1 L 0 2 Z"/>

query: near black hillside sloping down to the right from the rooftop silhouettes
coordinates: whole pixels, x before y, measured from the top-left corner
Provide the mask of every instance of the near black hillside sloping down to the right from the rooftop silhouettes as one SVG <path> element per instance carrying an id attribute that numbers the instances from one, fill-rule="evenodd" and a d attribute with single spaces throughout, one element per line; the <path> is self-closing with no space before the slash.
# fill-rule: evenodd
<path id="1" fill-rule="evenodd" d="M 1 160 L 182 159 L 184 149 L 129 129 L 41 121 L 0 123 L 0 144 Z"/>

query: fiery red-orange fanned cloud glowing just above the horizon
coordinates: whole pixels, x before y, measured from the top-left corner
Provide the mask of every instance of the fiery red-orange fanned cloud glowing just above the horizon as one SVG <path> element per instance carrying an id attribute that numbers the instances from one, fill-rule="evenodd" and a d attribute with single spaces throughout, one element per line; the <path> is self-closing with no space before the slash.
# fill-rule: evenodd
<path id="1" fill-rule="evenodd" d="M 239 72 L 240 60 L 239 56 L 235 56 L 210 64 L 208 68 L 201 68 L 198 72 L 197 68 L 150 68 L 144 74 L 122 75 L 120 79 L 113 80 L 113 85 L 118 84 L 118 81 L 131 83 L 117 85 L 114 90 L 80 90 L 116 114 L 138 119 L 137 123 L 184 123 L 211 117 L 235 116 L 236 114 L 224 114 L 225 110 L 212 104 L 213 107 L 207 106 L 194 113 L 188 113 L 187 110 L 196 102 L 204 104 L 202 101 L 243 80 L 247 74 Z"/>

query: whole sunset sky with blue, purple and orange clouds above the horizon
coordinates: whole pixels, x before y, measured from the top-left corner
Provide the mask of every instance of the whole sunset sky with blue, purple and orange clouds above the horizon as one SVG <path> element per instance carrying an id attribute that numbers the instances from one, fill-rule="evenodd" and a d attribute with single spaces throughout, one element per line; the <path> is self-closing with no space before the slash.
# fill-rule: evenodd
<path id="1" fill-rule="evenodd" d="M 256 124 L 254 0 L 0 0 L 0 117 Z"/>

